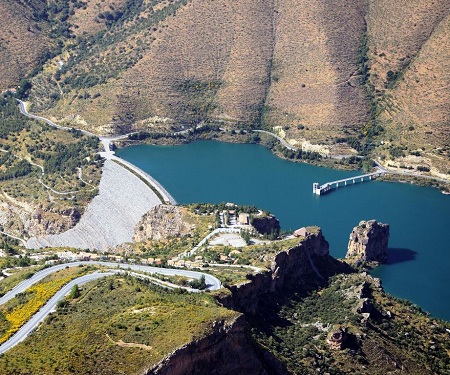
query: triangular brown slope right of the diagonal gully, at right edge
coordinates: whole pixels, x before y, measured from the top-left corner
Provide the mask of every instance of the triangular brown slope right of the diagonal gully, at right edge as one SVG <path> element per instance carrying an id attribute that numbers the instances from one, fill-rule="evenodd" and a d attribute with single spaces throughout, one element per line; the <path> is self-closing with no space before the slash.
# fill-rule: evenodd
<path id="1" fill-rule="evenodd" d="M 436 26 L 386 99 L 389 106 L 383 118 L 395 139 L 412 147 L 442 147 L 450 142 L 449 35 L 450 15 Z"/>

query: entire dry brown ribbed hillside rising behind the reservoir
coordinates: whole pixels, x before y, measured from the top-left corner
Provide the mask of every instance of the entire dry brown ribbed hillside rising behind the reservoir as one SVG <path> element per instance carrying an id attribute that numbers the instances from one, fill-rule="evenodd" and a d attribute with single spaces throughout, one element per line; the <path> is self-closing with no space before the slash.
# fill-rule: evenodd
<path id="1" fill-rule="evenodd" d="M 5 2 L 14 24 L 39 28 L 14 31 L 23 46 L 60 45 L 29 76 L 35 111 L 101 133 L 265 128 L 448 177 L 446 0 L 42 4 Z M 33 49 L 18 64 L 20 51 L 0 51 L 15 59 L 1 87 L 39 66 Z"/>

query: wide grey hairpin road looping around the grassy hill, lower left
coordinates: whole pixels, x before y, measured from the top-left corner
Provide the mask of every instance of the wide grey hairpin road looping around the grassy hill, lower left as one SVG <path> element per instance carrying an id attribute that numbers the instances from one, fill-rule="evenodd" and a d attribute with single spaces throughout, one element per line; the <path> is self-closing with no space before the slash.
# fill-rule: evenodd
<path id="1" fill-rule="evenodd" d="M 84 261 L 84 262 L 72 262 L 72 263 L 66 263 L 66 264 L 58 264 L 53 267 L 45 268 L 42 271 L 36 272 L 31 278 L 23 281 L 19 285 L 17 285 L 14 289 L 12 289 L 10 292 L 6 293 L 3 297 L 0 298 L 0 305 L 6 303 L 10 299 L 14 298 L 18 293 L 22 293 L 25 290 L 27 290 L 32 285 L 36 284 L 37 282 L 41 281 L 46 276 L 57 272 L 59 270 L 68 268 L 68 267 L 78 267 L 80 265 L 97 265 L 97 266 L 105 266 L 110 268 L 110 270 L 106 272 L 94 272 L 88 275 L 84 275 L 81 277 L 78 277 L 66 285 L 64 285 L 52 298 L 48 300 L 48 302 L 36 313 L 33 315 L 33 317 L 26 322 L 9 340 L 4 342 L 0 345 L 0 354 L 3 354 L 7 352 L 9 349 L 11 349 L 13 346 L 19 344 L 27 336 L 33 332 L 33 330 L 41 323 L 47 315 L 49 315 L 52 311 L 55 310 L 56 304 L 58 301 L 64 298 L 74 285 L 83 285 L 85 283 L 88 283 L 90 281 L 94 281 L 97 279 L 100 279 L 102 277 L 111 276 L 116 274 L 117 272 L 126 272 L 127 270 L 134 270 L 139 272 L 145 272 L 148 274 L 160 274 L 165 276 L 184 276 L 187 278 L 195 278 L 199 279 L 200 277 L 205 277 L 206 282 L 206 289 L 207 290 L 217 290 L 222 287 L 220 280 L 216 277 L 209 275 L 207 273 L 203 272 L 196 272 L 196 271 L 187 271 L 187 270 L 181 270 L 181 269 L 173 269 L 173 268 L 158 268 L 158 267 L 151 267 L 151 266 L 141 266 L 137 264 L 127 264 L 127 263 L 113 263 L 113 262 L 97 262 L 97 261 Z M 139 274 L 131 273 L 134 277 L 140 277 Z M 157 284 L 161 285 L 163 283 L 156 282 Z M 191 292 L 198 292 L 197 289 L 190 289 L 186 288 L 187 290 Z"/>

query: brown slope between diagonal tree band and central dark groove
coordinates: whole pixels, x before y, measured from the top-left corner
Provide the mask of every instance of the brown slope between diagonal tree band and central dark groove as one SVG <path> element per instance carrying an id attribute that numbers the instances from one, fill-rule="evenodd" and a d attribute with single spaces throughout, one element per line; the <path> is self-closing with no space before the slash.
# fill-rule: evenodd
<path id="1" fill-rule="evenodd" d="M 182 125 L 256 121 L 268 86 L 272 14 L 271 1 L 200 0 L 180 9 L 124 74 L 121 112 Z"/>

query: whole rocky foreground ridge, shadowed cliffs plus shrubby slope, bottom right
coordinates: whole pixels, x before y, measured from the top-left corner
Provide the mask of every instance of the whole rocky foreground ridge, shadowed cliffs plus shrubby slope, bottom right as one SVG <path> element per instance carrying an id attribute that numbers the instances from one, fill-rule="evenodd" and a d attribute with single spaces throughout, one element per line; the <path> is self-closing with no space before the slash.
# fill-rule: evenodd
<path id="1" fill-rule="evenodd" d="M 368 236 L 372 245 L 386 242 L 386 226 L 380 228 Z M 330 257 L 320 228 L 278 252 L 267 272 L 229 289 L 218 300 L 243 316 L 230 325 L 216 322 L 210 335 L 147 374 L 445 374 L 450 368 L 448 324 Z"/>

